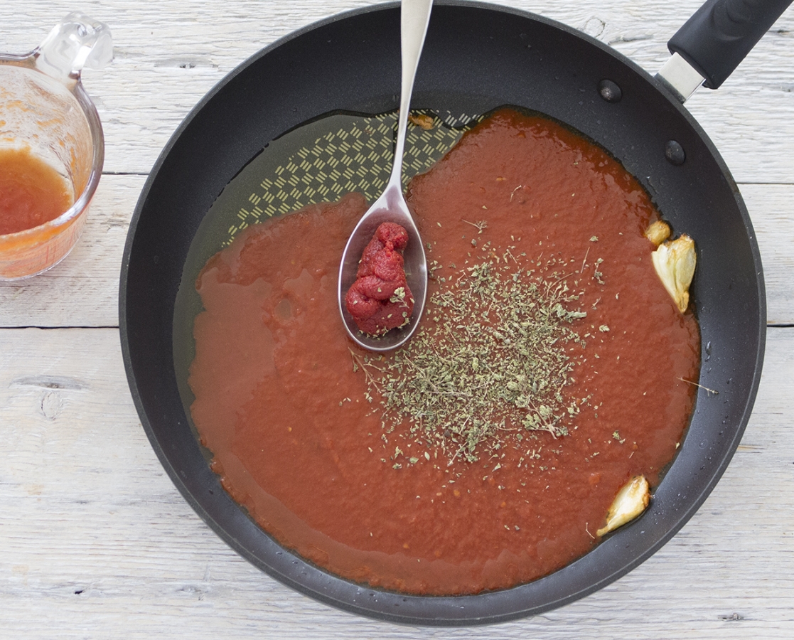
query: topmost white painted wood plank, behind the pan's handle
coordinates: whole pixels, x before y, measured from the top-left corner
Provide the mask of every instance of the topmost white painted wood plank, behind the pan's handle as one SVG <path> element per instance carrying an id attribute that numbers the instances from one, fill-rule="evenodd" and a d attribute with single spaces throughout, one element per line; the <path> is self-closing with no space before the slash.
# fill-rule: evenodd
<path id="1" fill-rule="evenodd" d="M 102 2 L 94 10 L 113 30 L 114 64 L 88 70 L 108 141 L 106 170 L 148 172 L 179 122 L 210 88 L 266 44 L 361 0 Z M 654 6 L 636 0 L 505 0 L 612 44 L 654 73 L 666 41 L 699 0 Z M 10 0 L 0 6 L 0 49 L 22 52 L 72 10 L 70 2 Z M 24 16 L 24 19 L 21 17 Z M 12 30 L 12 26 L 17 26 Z M 757 45 L 719 91 L 702 90 L 692 114 L 740 182 L 794 182 L 794 9 Z"/>

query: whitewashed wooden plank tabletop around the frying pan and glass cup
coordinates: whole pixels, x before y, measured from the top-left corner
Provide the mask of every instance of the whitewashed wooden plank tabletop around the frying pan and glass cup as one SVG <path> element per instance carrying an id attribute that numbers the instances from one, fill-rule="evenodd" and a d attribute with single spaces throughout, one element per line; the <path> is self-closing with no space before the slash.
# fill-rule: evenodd
<path id="1" fill-rule="evenodd" d="M 730 467 L 684 529 L 600 592 L 491 627 L 400 627 L 337 611 L 237 556 L 177 492 L 133 407 L 118 276 L 146 175 L 206 91 L 264 45 L 366 0 L 6 0 L 0 50 L 71 10 L 115 60 L 83 83 L 106 162 L 71 256 L 0 283 L 0 638 L 794 638 L 794 10 L 719 91 L 687 103 L 757 231 L 764 372 Z M 700 0 L 504 0 L 611 44 L 650 72 Z"/>

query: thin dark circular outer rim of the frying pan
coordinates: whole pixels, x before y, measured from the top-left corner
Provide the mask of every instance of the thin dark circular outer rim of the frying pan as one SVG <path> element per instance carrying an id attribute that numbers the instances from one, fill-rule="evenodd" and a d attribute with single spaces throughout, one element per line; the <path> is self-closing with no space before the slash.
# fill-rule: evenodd
<path id="1" fill-rule="evenodd" d="M 511 7 L 503 7 L 497 5 L 491 5 L 484 2 L 461 2 L 460 0 L 439 0 L 437 2 L 439 6 L 461 6 L 461 7 L 473 7 L 479 8 L 482 10 L 488 11 L 495 11 L 498 13 L 507 13 L 513 14 L 520 17 L 529 17 L 534 21 L 541 22 L 545 25 L 551 26 L 556 29 L 561 29 L 565 33 L 569 33 L 570 35 L 584 39 L 589 44 L 593 44 L 598 48 L 602 49 L 604 52 L 607 52 L 610 56 L 614 57 L 616 60 L 621 62 L 622 64 L 629 67 L 631 71 L 641 75 L 643 78 L 646 79 L 649 83 L 652 83 L 654 87 L 656 87 L 657 91 L 659 91 L 662 95 L 669 99 L 671 105 L 678 110 L 684 118 L 688 121 L 689 125 L 692 126 L 692 129 L 700 136 L 703 140 L 707 148 L 711 152 L 711 155 L 715 158 L 719 168 L 723 170 L 723 173 L 730 178 L 730 172 L 727 169 L 727 165 L 724 163 L 722 156 L 719 155 L 719 152 L 715 148 L 715 145 L 711 143 L 711 140 L 707 137 L 707 135 L 703 132 L 700 128 L 700 125 L 692 118 L 691 114 L 688 113 L 687 110 L 684 109 L 683 106 L 677 102 L 669 92 L 666 91 L 665 87 L 661 85 L 657 80 L 653 79 L 650 75 L 646 73 L 646 71 L 642 70 L 641 67 L 638 67 L 637 64 L 622 56 L 619 52 L 616 52 L 614 49 L 608 47 L 606 44 L 601 43 L 599 40 L 595 40 L 592 37 L 587 36 L 584 33 L 580 33 L 576 29 L 572 29 L 567 25 L 562 25 L 561 23 L 553 20 L 549 20 L 548 18 L 538 16 L 534 13 L 529 13 L 522 10 L 516 10 Z M 667 532 L 661 536 L 661 538 L 657 539 L 652 546 L 649 546 L 644 552 L 639 553 L 638 555 L 634 556 L 633 559 L 628 563 L 623 563 L 619 568 L 615 569 L 607 576 L 603 576 L 601 580 L 596 582 L 595 584 L 590 584 L 587 588 L 581 588 L 576 592 L 566 592 L 565 594 L 559 596 L 552 596 L 546 600 L 546 602 L 542 605 L 535 605 L 531 607 L 526 607 L 524 609 L 517 609 L 512 608 L 509 611 L 502 608 L 501 611 L 495 611 L 492 614 L 488 615 L 473 615 L 469 616 L 468 613 L 461 614 L 461 617 L 457 617 L 452 615 L 453 611 L 467 611 L 476 609 L 476 610 L 483 610 L 484 608 L 488 608 L 488 603 L 495 598 L 499 598 L 500 600 L 505 600 L 503 594 L 512 592 L 514 594 L 514 598 L 512 600 L 522 600 L 522 590 L 524 592 L 530 591 L 531 585 L 537 585 L 542 581 L 546 581 L 548 578 L 552 576 L 559 576 L 559 580 L 564 580 L 565 574 L 570 573 L 570 571 L 575 570 L 577 563 L 579 561 L 574 561 L 571 564 L 567 565 L 563 569 L 559 571 L 549 574 L 549 576 L 545 576 L 539 580 L 535 580 L 532 583 L 528 584 L 521 584 L 514 588 L 507 589 L 504 591 L 499 592 L 485 592 L 481 594 L 477 594 L 475 596 L 409 596 L 407 594 L 401 594 L 396 592 L 381 592 L 375 588 L 364 587 L 362 585 L 357 585 L 348 580 L 343 580 L 341 578 L 337 578 L 337 576 L 331 576 L 333 580 L 341 580 L 348 584 L 351 588 L 351 593 L 353 590 L 357 589 L 358 592 L 361 594 L 361 598 L 365 598 L 368 593 L 376 594 L 380 596 L 384 600 L 402 600 L 404 602 L 414 602 L 418 603 L 418 607 L 422 606 L 422 603 L 426 603 L 429 600 L 432 600 L 435 605 L 437 606 L 441 603 L 445 610 L 449 613 L 446 617 L 437 615 L 437 611 L 434 615 L 430 617 L 418 617 L 417 615 L 402 615 L 396 613 L 394 610 L 391 612 L 389 611 L 380 611 L 376 610 L 374 607 L 369 606 L 369 600 L 364 600 L 364 603 L 359 603 L 353 598 L 353 600 L 340 600 L 337 597 L 333 597 L 328 595 L 325 592 L 322 592 L 321 589 L 318 588 L 310 588 L 305 584 L 296 582 L 291 578 L 291 576 L 280 573 L 278 569 L 274 569 L 272 565 L 268 565 L 264 561 L 262 561 L 259 557 L 256 557 L 255 554 L 251 553 L 249 549 L 247 549 L 241 540 L 235 538 L 232 534 L 229 534 L 228 531 L 224 529 L 224 526 L 221 522 L 218 522 L 214 517 L 210 514 L 209 511 L 198 501 L 198 499 L 193 495 L 191 489 L 188 487 L 184 479 L 180 476 L 179 472 L 175 469 L 172 465 L 171 461 L 168 459 L 167 452 L 163 449 L 160 441 L 158 441 L 156 436 L 156 430 L 152 426 L 152 422 L 150 422 L 144 401 L 141 397 L 141 393 L 139 391 L 137 385 L 136 374 L 134 371 L 133 366 L 133 353 L 130 350 L 130 335 L 129 335 L 129 326 L 127 324 L 127 312 L 128 307 L 127 303 L 128 300 L 126 298 L 127 290 L 129 287 L 129 264 L 133 253 L 133 242 L 135 238 L 135 233 L 137 231 L 138 224 L 141 220 L 141 214 L 145 206 L 145 202 L 148 199 L 148 195 L 152 190 L 152 186 L 156 183 L 157 175 L 160 172 L 160 168 L 162 168 L 165 160 L 168 158 L 170 152 L 174 148 L 174 145 L 179 140 L 179 137 L 185 133 L 187 129 L 189 129 L 191 125 L 191 121 L 194 120 L 195 116 L 206 106 L 208 102 L 210 102 L 222 89 L 231 82 L 237 75 L 243 73 L 251 64 L 255 63 L 256 60 L 260 60 L 260 58 L 267 56 L 270 52 L 276 50 L 283 44 L 290 42 L 291 40 L 295 40 L 306 33 L 310 33 L 314 31 L 314 29 L 322 28 L 327 25 L 332 25 L 337 21 L 344 21 L 349 18 L 357 17 L 361 14 L 371 13 L 380 10 L 394 10 L 396 7 L 399 6 L 399 2 L 388 2 L 381 5 L 376 6 L 368 6 L 362 7 L 355 10 L 345 11 L 343 13 L 337 13 L 331 17 L 327 17 L 321 21 L 314 22 L 311 25 L 306 25 L 302 29 L 298 29 L 297 31 L 287 34 L 279 40 L 276 40 L 274 43 L 269 44 L 267 47 L 260 50 L 253 56 L 249 57 L 248 60 L 245 60 L 242 64 L 235 67 L 233 71 L 231 71 L 228 75 L 226 75 L 218 84 L 215 85 L 198 103 L 197 105 L 191 110 L 191 112 L 187 115 L 187 117 L 180 123 L 179 127 L 175 130 L 175 133 L 172 134 L 172 137 L 169 139 L 167 145 L 165 145 L 163 151 L 160 153 L 160 156 L 156 160 L 156 163 L 152 167 L 152 171 L 149 173 L 148 178 L 145 182 L 145 185 L 141 191 L 141 196 L 138 199 L 135 211 L 133 213 L 133 218 L 131 219 L 129 232 L 127 236 L 127 241 L 125 243 L 125 249 L 121 261 L 121 279 L 120 279 L 120 289 L 119 289 L 119 315 L 120 315 L 120 337 L 121 337 L 121 351 L 122 356 L 124 359 L 125 364 L 125 371 L 127 373 L 128 382 L 130 391 L 133 396 L 133 401 L 135 403 L 137 412 L 141 418 L 141 423 L 144 426 L 145 432 L 148 436 L 150 443 L 152 444 L 152 448 L 155 449 L 157 457 L 160 459 L 160 463 L 164 466 L 165 470 L 168 472 L 168 476 L 171 477 L 172 481 L 174 482 L 175 486 L 179 489 L 179 492 L 183 495 L 186 499 L 187 503 L 191 504 L 191 507 L 198 513 L 198 515 L 212 528 L 216 534 L 222 540 L 224 540 L 229 546 L 231 546 L 237 553 L 240 553 L 242 557 L 245 557 L 248 561 L 250 561 L 253 565 L 257 566 L 259 569 L 262 569 L 265 573 L 273 576 L 277 580 L 281 581 L 283 584 L 287 584 L 291 588 L 295 588 L 295 590 L 299 592 L 303 592 L 304 594 L 313 597 L 316 600 L 320 600 L 322 602 L 331 604 L 334 607 L 341 608 L 345 611 L 350 611 L 353 613 L 357 613 L 359 615 L 366 615 L 368 617 L 387 620 L 394 623 L 403 623 L 403 624 L 412 624 L 412 625 L 420 625 L 420 626 L 467 626 L 467 625 L 474 625 L 474 624 L 484 624 L 484 623 L 501 623 L 506 622 L 507 620 L 511 619 L 518 619 L 522 617 L 526 617 L 528 615 L 534 615 L 540 613 L 542 611 L 549 611 L 550 609 L 560 607 L 566 603 L 570 603 L 574 600 L 579 600 L 581 597 L 588 595 L 589 593 L 595 592 L 600 588 L 603 588 L 607 584 L 611 584 L 614 580 L 617 580 L 619 577 L 625 575 L 626 573 L 630 572 L 630 570 L 634 569 L 636 566 L 642 564 L 648 557 L 656 553 L 658 549 L 661 548 L 666 542 L 669 541 L 670 538 L 680 530 L 682 526 L 689 519 L 691 519 L 692 515 L 700 508 L 703 504 L 707 496 L 711 493 L 711 490 L 714 488 L 715 484 L 719 481 L 720 477 L 723 475 L 723 472 L 727 468 L 727 465 L 730 463 L 731 457 L 735 452 L 736 446 L 738 442 L 742 438 L 742 434 L 746 428 L 747 421 L 750 417 L 750 411 L 752 410 L 754 399 L 757 395 L 758 385 L 760 384 L 761 378 L 761 364 L 763 361 L 764 356 L 764 347 L 765 347 L 765 333 L 766 333 L 766 324 L 765 324 L 765 292 L 764 292 L 764 282 L 763 282 L 763 274 L 761 269 L 761 257 L 760 252 L 757 248 L 757 242 L 755 241 L 755 235 L 752 232 L 752 226 L 750 223 L 749 214 L 746 212 L 746 207 L 743 205 L 741 195 L 738 194 L 738 188 L 736 187 L 735 183 L 730 179 L 729 187 L 733 189 L 734 194 L 738 200 L 739 204 L 739 211 L 742 214 L 742 218 L 746 224 L 746 228 L 748 229 L 749 239 L 750 239 L 750 248 L 752 250 L 754 264 L 756 267 L 756 272 L 758 276 L 758 299 L 760 301 L 760 310 L 759 310 L 759 318 L 762 318 L 762 321 L 759 322 L 758 326 L 758 333 L 757 333 L 757 340 L 759 349 L 757 350 L 756 354 L 756 368 L 755 368 L 755 376 L 754 380 L 752 381 L 750 395 L 748 397 L 745 411 L 743 412 L 742 416 L 739 418 L 739 428 L 736 430 L 734 434 L 734 438 L 730 441 L 730 445 L 728 446 L 728 453 L 723 460 L 720 461 L 718 465 L 718 471 L 711 476 L 709 482 L 702 488 L 700 494 L 696 496 L 690 503 L 688 503 L 688 507 L 683 511 L 680 519 L 676 523 L 676 526 L 673 526 Z M 275 544 L 275 543 L 274 543 Z M 287 555 L 291 555 L 291 552 L 287 549 L 283 549 L 283 553 Z M 588 557 L 592 554 L 588 553 L 585 557 Z M 303 561 L 303 558 L 300 558 L 296 555 L 293 555 L 299 559 L 299 561 Z M 314 569 L 312 565 L 306 566 L 311 571 L 318 571 Z M 322 572 L 320 572 L 322 573 Z M 354 594 L 353 594 L 354 595 Z M 474 600 L 476 599 L 476 601 Z M 473 606 L 476 602 L 476 606 Z M 496 607 L 497 609 L 499 607 Z"/>

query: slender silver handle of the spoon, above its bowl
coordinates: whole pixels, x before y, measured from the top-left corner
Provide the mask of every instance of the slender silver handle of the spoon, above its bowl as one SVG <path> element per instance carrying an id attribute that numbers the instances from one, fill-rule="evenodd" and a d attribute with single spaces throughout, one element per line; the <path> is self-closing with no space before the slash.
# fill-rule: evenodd
<path id="1" fill-rule="evenodd" d="M 389 184 L 396 184 L 402 193 L 403 152 L 405 136 L 408 129 L 408 113 L 410 111 L 410 94 L 414 89 L 414 78 L 422 45 L 425 44 L 427 24 L 430 22 L 430 10 L 433 0 L 403 0 L 400 5 L 400 50 L 403 59 L 403 86 L 400 91 L 399 118 L 397 120 L 397 142 L 395 160 L 391 167 Z"/>

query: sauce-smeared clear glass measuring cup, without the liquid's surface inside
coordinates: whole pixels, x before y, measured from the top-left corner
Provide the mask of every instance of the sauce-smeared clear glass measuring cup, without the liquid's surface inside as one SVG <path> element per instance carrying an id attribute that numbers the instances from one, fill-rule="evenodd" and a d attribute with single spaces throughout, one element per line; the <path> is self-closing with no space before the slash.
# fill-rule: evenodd
<path id="1" fill-rule="evenodd" d="M 73 200 L 49 222 L 0 234 L 0 280 L 46 271 L 78 240 L 105 158 L 102 124 L 80 71 L 112 59 L 110 29 L 79 12 L 69 13 L 32 52 L 0 54 L 0 150 L 44 161 L 64 178 Z"/>

